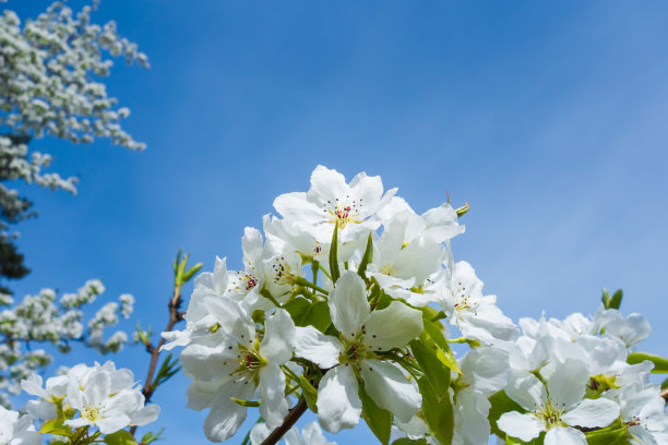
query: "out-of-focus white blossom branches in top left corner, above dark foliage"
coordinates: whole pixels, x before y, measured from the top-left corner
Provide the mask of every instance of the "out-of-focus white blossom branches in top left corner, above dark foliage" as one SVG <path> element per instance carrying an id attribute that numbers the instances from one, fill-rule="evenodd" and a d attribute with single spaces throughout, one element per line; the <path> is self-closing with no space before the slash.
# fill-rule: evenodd
<path id="1" fill-rule="evenodd" d="M 147 68 L 146 56 L 136 45 L 120 37 L 116 23 L 91 22 L 96 9 L 74 12 L 55 2 L 22 26 L 19 16 L 4 10 L 0 16 L 0 128 L 13 135 L 41 137 L 50 134 L 72 142 L 110 137 L 132 149 L 144 145 L 126 133 L 120 119 L 127 108 L 115 109 L 117 100 L 95 77 L 109 74 L 114 64 L 105 55 L 123 56 Z"/>

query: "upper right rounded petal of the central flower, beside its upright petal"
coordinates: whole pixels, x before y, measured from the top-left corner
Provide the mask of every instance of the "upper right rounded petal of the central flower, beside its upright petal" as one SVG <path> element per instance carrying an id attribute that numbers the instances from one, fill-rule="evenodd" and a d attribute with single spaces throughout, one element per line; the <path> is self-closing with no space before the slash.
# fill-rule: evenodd
<path id="1" fill-rule="evenodd" d="M 387 308 L 371 312 L 366 332 L 365 342 L 373 350 L 402 348 L 422 332 L 422 313 L 393 301 Z"/>

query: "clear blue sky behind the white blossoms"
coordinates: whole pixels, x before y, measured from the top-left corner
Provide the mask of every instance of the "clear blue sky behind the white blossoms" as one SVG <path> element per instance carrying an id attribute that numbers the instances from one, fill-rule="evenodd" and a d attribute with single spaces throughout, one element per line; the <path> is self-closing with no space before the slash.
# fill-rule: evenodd
<path id="1" fill-rule="evenodd" d="M 40 216 L 19 226 L 33 273 L 17 294 L 98 277 L 162 328 L 177 249 L 239 266 L 243 227 L 323 164 L 380 175 L 418 212 L 469 202 L 454 253 L 514 320 L 594 313 L 621 287 L 654 327 L 642 349 L 668 356 L 666 3 L 103 0 L 96 16 L 152 62 L 107 82 L 148 148 L 33 144 L 81 183 L 26 189 Z M 94 360 L 80 353 L 64 362 Z M 147 359 L 116 360 L 143 377 Z M 156 425 L 207 443 L 186 384 L 156 394 Z"/>

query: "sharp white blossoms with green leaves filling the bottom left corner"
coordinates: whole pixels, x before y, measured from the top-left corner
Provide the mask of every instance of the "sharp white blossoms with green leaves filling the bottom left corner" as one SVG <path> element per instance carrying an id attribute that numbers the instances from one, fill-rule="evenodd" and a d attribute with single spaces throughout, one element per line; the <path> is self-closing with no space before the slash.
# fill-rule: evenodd
<path id="1" fill-rule="evenodd" d="M 130 444 L 135 442 L 127 441 L 129 433 L 121 430 L 145 425 L 159 413 L 158 406 L 144 405 L 132 372 L 117 370 L 110 361 L 94 366 L 77 364 L 64 375 L 48 378 L 46 385 L 39 375 L 33 374 L 21 382 L 21 387 L 36 398 L 27 402 L 27 413 L 23 416 L 0 407 L 2 444 L 40 444 L 40 433 L 82 445 L 102 440 L 119 443 L 109 437 L 116 434 L 117 440 Z M 38 432 L 35 420 L 41 423 Z"/>

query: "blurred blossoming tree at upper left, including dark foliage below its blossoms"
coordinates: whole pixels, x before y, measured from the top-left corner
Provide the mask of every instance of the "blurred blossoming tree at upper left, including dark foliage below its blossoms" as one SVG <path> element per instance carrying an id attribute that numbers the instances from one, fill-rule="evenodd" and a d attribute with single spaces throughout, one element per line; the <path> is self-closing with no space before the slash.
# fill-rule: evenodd
<path id="1" fill-rule="evenodd" d="M 77 178 L 43 172 L 51 156 L 31 152 L 31 141 L 55 136 L 79 144 L 108 137 L 130 149 L 145 147 L 121 128 L 130 110 L 117 106 L 100 79 L 109 75 L 112 58 L 148 68 L 147 58 L 118 35 L 115 22 L 92 23 L 97 4 L 74 13 L 55 2 L 23 23 L 10 10 L 0 15 L 0 279 L 29 272 L 10 225 L 36 213 L 12 184 L 23 181 L 76 193 Z M 10 291 L 0 286 L 0 292 Z"/>

